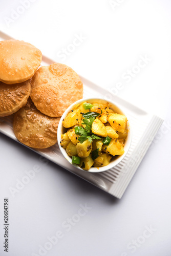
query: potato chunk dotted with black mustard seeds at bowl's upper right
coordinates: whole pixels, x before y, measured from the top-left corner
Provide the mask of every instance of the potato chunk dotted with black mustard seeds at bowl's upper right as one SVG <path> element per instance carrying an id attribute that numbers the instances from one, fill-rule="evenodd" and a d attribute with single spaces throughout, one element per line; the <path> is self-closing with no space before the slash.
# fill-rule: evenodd
<path id="1" fill-rule="evenodd" d="M 118 132 L 124 133 L 126 129 L 126 117 L 124 115 L 113 113 L 109 117 L 111 126 Z"/>

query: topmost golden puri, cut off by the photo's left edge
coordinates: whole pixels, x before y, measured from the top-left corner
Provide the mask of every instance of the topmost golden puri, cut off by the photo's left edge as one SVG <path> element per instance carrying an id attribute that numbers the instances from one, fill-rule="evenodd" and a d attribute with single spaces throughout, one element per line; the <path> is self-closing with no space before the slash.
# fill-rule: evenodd
<path id="1" fill-rule="evenodd" d="M 7 84 L 30 79 L 40 65 L 41 51 L 25 41 L 0 42 L 0 81 Z"/>

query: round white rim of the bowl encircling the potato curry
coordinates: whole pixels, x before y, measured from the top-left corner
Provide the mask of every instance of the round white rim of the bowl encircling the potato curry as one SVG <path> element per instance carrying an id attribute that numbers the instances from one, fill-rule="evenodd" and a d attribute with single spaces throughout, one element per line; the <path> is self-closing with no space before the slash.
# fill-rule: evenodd
<path id="1" fill-rule="evenodd" d="M 63 129 L 63 125 L 62 125 L 62 121 L 63 119 L 67 116 L 67 114 L 72 110 L 72 108 L 81 103 L 81 102 L 84 102 L 84 101 L 89 101 L 89 100 L 100 100 L 100 101 L 105 101 L 105 102 L 109 102 L 110 104 L 114 105 L 114 107 L 119 110 L 120 113 L 122 113 L 123 115 L 126 116 L 125 112 L 122 111 L 122 109 L 120 108 L 120 106 L 118 106 L 118 104 L 115 104 L 115 102 L 113 102 L 112 100 L 105 100 L 103 98 L 100 98 L 100 97 L 89 97 L 89 98 L 82 98 L 82 99 L 79 99 L 77 101 L 75 101 L 74 103 L 72 103 L 67 109 L 66 111 L 62 114 L 60 120 L 59 120 L 59 124 L 58 124 L 58 129 L 57 129 L 57 142 L 58 142 L 58 146 L 59 146 L 59 149 L 60 149 L 60 152 L 62 153 L 63 157 L 65 157 L 68 162 L 70 164 L 72 164 L 73 166 L 75 166 L 77 169 L 79 170 L 82 170 L 83 172 L 90 172 L 90 173 L 100 173 L 100 172 L 104 172 L 105 170 L 109 170 L 113 167 L 115 167 L 117 164 L 119 164 L 123 158 L 126 156 L 127 152 L 129 151 L 130 149 L 130 146 L 131 146 L 131 142 L 132 142 L 132 129 L 131 129 L 131 126 L 130 126 L 130 121 L 127 120 L 126 118 L 126 125 L 128 127 L 128 135 L 127 135 L 127 138 L 126 138 L 126 143 L 124 145 L 124 153 L 123 155 L 120 155 L 118 156 L 116 159 L 114 159 L 112 162 L 110 162 L 108 165 L 106 166 L 102 166 L 102 167 L 91 167 L 89 170 L 84 170 L 82 169 L 81 167 L 79 167 L 78 165 L 76 164 L 73 164 L 72 163 L 72 158 L 67 154 L 66 150 L 64 148 L 61 147 L 60 145 L 60 141 L 61 141 L 61 134 L 62 134 L 62 129 Z M 127 116 L 126 116 L 127 117 Z"/>

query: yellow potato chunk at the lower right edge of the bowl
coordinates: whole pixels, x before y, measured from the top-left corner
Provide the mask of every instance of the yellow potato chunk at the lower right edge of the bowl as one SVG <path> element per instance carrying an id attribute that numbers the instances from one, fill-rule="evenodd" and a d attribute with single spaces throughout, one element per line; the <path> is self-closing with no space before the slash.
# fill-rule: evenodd
<path id="1" fill-rule="evenodd" d="M 117 139 L 112 139 L 109 146 L 102 145 L 102 151 L 109 153 L 112 156 L 122 155 L 124 153 L 123 147 Z"/>

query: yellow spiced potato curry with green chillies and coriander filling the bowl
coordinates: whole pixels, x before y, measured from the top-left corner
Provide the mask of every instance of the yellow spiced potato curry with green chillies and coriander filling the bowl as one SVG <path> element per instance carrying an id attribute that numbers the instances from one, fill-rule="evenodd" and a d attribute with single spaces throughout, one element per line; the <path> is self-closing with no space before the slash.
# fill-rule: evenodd
<path id="1" fill-rule="evenodd" d="M 108 102 L 77 104 L 62 123 L 65 133 L 60 145 L 72 163 L 84 170 L 109 165 L 124 153 L 126 117 L 111 109 Z"/>

